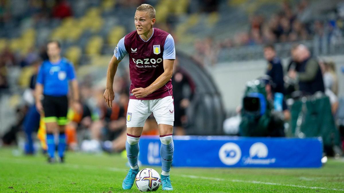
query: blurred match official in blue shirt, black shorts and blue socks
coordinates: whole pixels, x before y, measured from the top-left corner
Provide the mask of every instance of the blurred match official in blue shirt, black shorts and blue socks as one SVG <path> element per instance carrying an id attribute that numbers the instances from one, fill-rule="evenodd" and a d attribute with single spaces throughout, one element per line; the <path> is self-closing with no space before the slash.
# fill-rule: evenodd
<path id="1" fill-rule="evenodd" d="M 73 107 L 80 111 L 78 82 L 75 77 L 73 65 L 60 56 L 60 43 L 50 41 L 47 43 L 49 60 L 43 61 L 36 82 L 35 98 L 36 108 L 44 111 L 46 125 L 46 140 L 48 146 L 48 162 L 55 162 L 54 133 L 59 132 L 58 156 L 64 162 L 66 148 L 65 125 L 67 124 L 68 110 L 68 80 L 71 81 L 73 90 Z M 43 102 L 42 102 L 43 101 Z"/>

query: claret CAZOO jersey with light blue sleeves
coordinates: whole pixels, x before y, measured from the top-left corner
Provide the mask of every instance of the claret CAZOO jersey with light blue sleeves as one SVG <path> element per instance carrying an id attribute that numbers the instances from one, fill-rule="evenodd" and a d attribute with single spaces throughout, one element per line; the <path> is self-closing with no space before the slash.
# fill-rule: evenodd
<path id="1" fill-rule="evenodd" d="M 146 88 L 163 72 L 163 60 L 175 59 L 174 41 L 171 34 L 153 27 L 152 36 L 144 41 L 137 31 L 123 37 L 114 50 L 118 60 L 129 55 L 130 91 L 134 88 Z M 172 83 L 169 80 L 164 86 L 140 100 L 153 100 L 172 96 Z M 130 92 L 130 99 L 137 99 Z"/>

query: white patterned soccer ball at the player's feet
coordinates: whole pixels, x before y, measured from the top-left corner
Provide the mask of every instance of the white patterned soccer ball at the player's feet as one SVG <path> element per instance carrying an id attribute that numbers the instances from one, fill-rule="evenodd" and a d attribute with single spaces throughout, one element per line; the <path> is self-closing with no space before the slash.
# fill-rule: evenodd
<path id="1" fill-rule="evenodd" d="M 137 173 L 135 184 L 141 192 L 156 191 L 161 184 L 160 175 L 151 168 L 145 168 Z"/>

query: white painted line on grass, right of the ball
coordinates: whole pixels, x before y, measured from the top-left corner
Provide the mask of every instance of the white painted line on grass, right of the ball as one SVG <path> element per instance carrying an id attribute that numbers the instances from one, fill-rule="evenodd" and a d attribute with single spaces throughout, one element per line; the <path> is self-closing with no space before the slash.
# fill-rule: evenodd
<path id="1" fill-rule="evenodd" d="M 226 181 L 226 179 L 222 179 L 222 178 L 209 178 L 209 177 L 196 176 L 196 175 L 180 175 L 180 176 L 181 176 L 181 177 L 185 177 L 185 178 L 196 178 L 196 179 L 204 179 L 204 180 Z M 307 188 L 307 189 L 321 189 L 321 190 L 344 191 L 344 189 L 337 189 L 337 188 L 323 188 L 323 187 L 317 187 L 317 186 L 303 186 L 303 185 L 281 184 L 281 183 L 272 183 L 272 182 L 246 181 L 246 180 L 229 180 L 229 181 L 232 181 L 232 182 L 252 183 L 252 184 L 266 184 L 266 185 L 291 186 L 291 187 Z"/>

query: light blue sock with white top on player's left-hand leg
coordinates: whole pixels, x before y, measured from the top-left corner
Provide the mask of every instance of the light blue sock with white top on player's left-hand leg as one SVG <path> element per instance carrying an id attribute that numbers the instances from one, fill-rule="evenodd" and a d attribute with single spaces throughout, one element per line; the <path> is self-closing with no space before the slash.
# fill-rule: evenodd
<path id="1" fill-rule="evenodd" d="M 130 168 L 133 170 L 139 169 L 137 165 L 137 159 L 139 155 L 139 140 L 140 136 L 133 136 L 127 134 L 127 141 L 126 141 L 126 150 L 127 150 L 127 158 L 130 164 Z"/>

